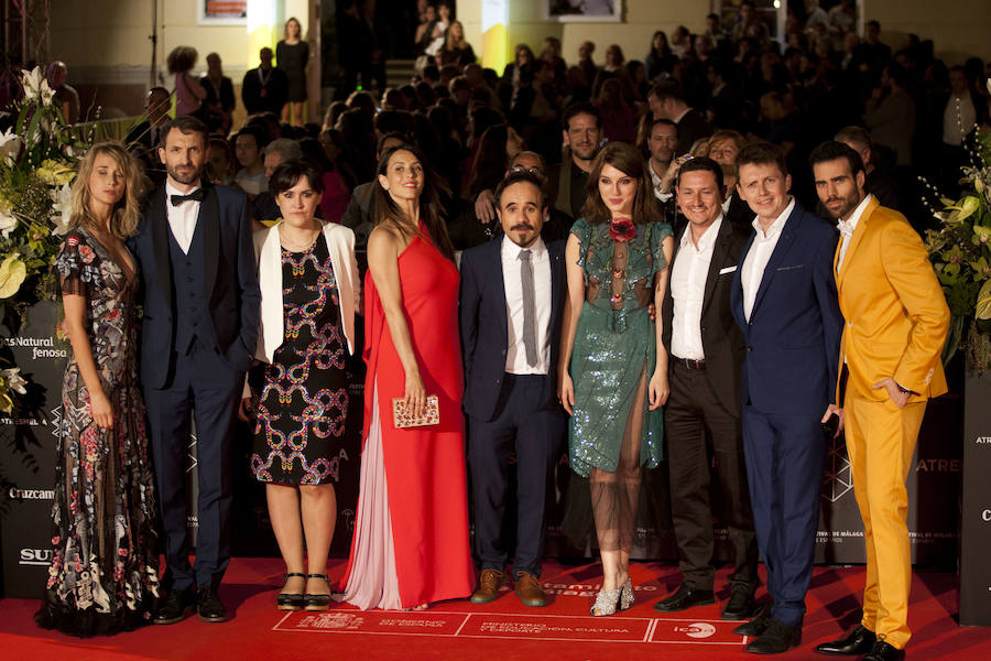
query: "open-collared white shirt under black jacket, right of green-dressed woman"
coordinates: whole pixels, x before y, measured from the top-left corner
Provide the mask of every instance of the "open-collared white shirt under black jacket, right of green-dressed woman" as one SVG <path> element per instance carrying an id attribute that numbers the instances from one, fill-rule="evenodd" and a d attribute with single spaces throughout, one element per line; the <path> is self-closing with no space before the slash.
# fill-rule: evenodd
<path id="1" fill-rule="evenodd" d="M 716 237 L 722 226 L 722 214 L 716 218 L 703 236 L 698 246 L 691 240 L 691 226 L 685 228 L 678 256 L 671 272 L 671 297 L 674 312 L 671 323 L 671 354 L 676 358 L 705 360 L 706 351 L 701 343 L 701 306 L 706 295 L 706 280 Z"/>

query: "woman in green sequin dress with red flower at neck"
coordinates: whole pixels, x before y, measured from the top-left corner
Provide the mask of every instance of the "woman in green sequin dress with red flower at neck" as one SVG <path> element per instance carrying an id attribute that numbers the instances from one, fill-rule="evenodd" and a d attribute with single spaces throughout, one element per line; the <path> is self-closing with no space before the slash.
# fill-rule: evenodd
<path id="1" fill-rule="evenodd" d="M 641 466 L 662 458 L 667 351 L 661 310 L 674 239 L 643 158 L 606 145 L 588 177 L 588 201 L 568 237 L 568 304 L 562 326 L 558 393 L 571 414 L 571 468 L 589 479 L 602 588 L 592 615 L 633 604 L 629 575 Z"/>

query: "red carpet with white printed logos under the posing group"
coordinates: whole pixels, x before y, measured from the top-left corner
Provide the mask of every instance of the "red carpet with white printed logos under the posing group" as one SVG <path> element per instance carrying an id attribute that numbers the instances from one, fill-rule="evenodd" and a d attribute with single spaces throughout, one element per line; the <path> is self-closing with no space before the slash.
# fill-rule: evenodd
<path id="1" fill-rule="evenodd" d="M 331 578 L 342 563 L 331 567 Z M 632 567 L 636 604 L 618 616 L 588 615 L 598 565 L 544 567 L 547 608 L 524 608 L 511 590 L 486 606 L 447 602 L 420 613 L 362 613 L 338 605 L 324 614 L 275 610 L 282 563 L 271 559 L 231 562 L 220 595 L 233 619 L 206 625 L 196 617 L 170 627 L 146 627 L 112 638 L 73 639 L 35 627 L 35 602 L 0 600 L 0 658 L 72 659 L 497 659 L 553 661 L 616 658 L 747 659 L 734 622 L 715 606 L 677 617 L 654 617 L 651 605 L 673 589 L 678 574 L 656 563 Z M 728 570 L 717 574 L 726 585 Z M 991 629 L 958 627 L 952 574 L 918 572 L 912 585 L 910 659 L 991 659 Z M 862 567 L 818 567 L 808 595 L 803 644 L 786 659 L 817 659 L 815 644 L 857 624 Z"/>

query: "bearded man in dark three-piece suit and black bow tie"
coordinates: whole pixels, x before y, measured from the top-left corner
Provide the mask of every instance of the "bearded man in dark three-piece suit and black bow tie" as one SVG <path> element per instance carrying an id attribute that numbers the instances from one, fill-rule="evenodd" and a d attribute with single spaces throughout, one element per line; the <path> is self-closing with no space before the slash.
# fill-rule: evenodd
<path id="1" fill-rule="evenodd" d="M 217 588 L 230 561 L 231 432 L 258 340 L 259 289 L 248 201 L 207 185 L 208 134 L 181 116 L 165 127 L 165 184 L 130 239 L 142 274 L 141 384 L 148 408 L 167 571 L 154 617 L 171 625 L 195 607 L 221 622 Z M 196 562 L 186 541 L 186 454 L 195 418 L 199 474 Z"/>

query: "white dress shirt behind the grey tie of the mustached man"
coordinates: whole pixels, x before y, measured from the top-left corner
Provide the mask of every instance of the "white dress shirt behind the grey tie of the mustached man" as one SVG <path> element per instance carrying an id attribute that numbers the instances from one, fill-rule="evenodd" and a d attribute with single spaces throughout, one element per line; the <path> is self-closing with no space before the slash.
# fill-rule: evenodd
<path id="1" fill-rule="evenodd" d="M 505 288 L 505 371 L 513 375 L 546 375 L 551 369 L 551 253 L 544 240 L 537 238 L 530 247 L 533 264 L 533 303 L 536 313 L 537 364 L 526 365 L 526 347 L 523 344 L 523 281 L 520 268 L 523 250 L 508 237 L 502 237 L 502 282 Z"/>

